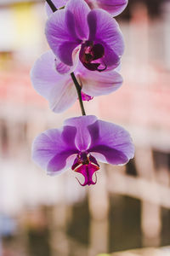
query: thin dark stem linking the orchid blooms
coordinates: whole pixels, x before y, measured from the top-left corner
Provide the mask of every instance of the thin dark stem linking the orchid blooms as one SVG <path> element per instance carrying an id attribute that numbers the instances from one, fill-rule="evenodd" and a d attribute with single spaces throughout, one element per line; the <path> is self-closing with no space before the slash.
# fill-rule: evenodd
<path id="1" fill-rule="evenodd" d="M 52 9 L 53 12 L 55 12 L 57 10 L 57 8 L 55 7 L 54 3 L 51 0 L 46 0 L 46 2 L 48 3 L 49 7 Z M 76 86 L 76 89 L 77 89 L 77 95 L 78 95 L 78 100 L 80 103 L 82 115 L 86 115 L 84 106 L 82 103 L 82 94 L 81 94 L 82 87 L 80 86 L 80 84 L 78 84 L 77 78 L 73 72 L 71 73 L 71 79 L 73 80 L 73 82 Z"/>

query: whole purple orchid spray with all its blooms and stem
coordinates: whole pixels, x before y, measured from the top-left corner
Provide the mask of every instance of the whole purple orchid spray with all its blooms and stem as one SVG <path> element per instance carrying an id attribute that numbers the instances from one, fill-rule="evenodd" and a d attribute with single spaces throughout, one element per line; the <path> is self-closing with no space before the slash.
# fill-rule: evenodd
<path id="1" fill-rule="evenodd" d="M 82 186 L 95 184 L 98 161 L 122 165 L 133 158 L 129 133 L 86 115 L 82 103 L 122 85 L 118 70 L 124 43 L 111 15 L 120 14 L 126 5 L 127 0 L 47 0 L 46 36 L 52 51 L 36 61 L 31 81 L 55 113 L 71 107 L 77 96 L 82 110 L 82 116 L 35 138 L 32 159 L 49 175 L 72 169 L 83 175 Z"/>

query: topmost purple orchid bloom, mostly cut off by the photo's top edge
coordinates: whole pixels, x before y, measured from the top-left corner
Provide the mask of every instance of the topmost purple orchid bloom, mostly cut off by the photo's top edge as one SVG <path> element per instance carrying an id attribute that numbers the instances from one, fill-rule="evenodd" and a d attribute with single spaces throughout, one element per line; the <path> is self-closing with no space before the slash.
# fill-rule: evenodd
<path id="1" fill-rule="evenodd" d="M 128 0 L 85 0 L 88 3 L 90 9 L 101 8 L 108 11 L 111 15 L 120 15 L 122 11 L 127 7 Z M 53 3 L 57 9 L 65 6 L 68 0 L 53 0 Z M 52 14 L 52 10 L 46 3 L 48 15 Z"/>

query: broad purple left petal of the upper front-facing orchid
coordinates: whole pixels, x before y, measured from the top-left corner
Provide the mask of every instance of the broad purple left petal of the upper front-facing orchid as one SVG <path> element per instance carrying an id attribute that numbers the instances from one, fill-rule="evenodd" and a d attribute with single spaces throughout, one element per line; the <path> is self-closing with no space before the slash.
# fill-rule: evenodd
<path id="1" fill-rule="evenodd" d="M 59 9 L 46 23 L 46 37 L 50 48 L 66 65 L 72 66 L 72 51 L 80 44 L 75 30 L 75 19 L 69 11 Z"/>

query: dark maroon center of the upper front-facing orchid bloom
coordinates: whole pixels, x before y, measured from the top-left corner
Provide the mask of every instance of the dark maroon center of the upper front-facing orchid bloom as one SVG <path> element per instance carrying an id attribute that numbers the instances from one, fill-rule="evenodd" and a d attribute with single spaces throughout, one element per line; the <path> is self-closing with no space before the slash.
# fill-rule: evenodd
<path id="1" fill-rule="evenodd" d="M 92 41 L 86 41 L 82 44 L 79 56 L 84 67 L 92 71 L 97 70 L 101 72 L 106 69 L 106 66 L 99 69 L 99 66 L 101 65 L 99 59 L 101 59 L 104 55 L 105 48 L 102 44 L 94 44 Z"/>

